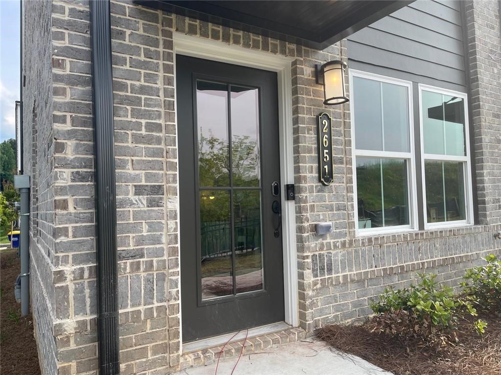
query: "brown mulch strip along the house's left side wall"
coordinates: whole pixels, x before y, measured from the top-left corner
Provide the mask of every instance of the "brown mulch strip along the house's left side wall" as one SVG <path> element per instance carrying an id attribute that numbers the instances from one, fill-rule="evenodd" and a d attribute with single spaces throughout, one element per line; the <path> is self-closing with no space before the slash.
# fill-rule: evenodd
<path id="1" fill-rule="evenodd" d="M 20 271 L 15 249 L 0 251 L 0 373 L 40 375 L 32 315 L 21 317 L 21 304 L 14 296 Z"/>

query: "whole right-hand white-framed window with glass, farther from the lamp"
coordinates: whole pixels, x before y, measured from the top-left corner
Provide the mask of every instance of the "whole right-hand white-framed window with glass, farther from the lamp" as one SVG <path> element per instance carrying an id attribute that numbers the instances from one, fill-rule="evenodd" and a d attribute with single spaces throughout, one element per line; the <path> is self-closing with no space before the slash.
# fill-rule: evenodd
<path id="1" fill-rule="evenodd" d="M 473 223 L 467 95 L 419 84 L 424 228 Z"/>

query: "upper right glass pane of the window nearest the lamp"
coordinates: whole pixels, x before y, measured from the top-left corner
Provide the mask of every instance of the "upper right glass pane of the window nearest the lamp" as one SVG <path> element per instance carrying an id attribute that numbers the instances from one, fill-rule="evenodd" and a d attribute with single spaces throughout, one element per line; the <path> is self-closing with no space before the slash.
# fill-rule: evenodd
<path id="1" fill-rule="evenodd" d="M 384 150 L 410 152 L 407 87 L 382 83 L 382 90 Z"/>

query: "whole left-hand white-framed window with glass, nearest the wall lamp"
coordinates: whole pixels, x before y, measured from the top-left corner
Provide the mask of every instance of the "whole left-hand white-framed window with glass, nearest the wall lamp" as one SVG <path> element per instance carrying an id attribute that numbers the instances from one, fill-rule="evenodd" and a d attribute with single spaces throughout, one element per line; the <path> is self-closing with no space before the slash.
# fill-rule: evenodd
<path id="1" fill-rule="evenodd" d="M 417 230 L 412 82 L 350 70 L 355 230 Z"/>

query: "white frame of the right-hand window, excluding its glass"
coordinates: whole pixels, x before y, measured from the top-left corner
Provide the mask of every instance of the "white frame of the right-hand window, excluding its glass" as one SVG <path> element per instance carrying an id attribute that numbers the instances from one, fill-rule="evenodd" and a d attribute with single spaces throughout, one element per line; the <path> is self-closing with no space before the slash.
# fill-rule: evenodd
<path id="1" fill-rule="evenodd" d="M 421 138 L 421 178 L 423 190 L 423 219 L 425 229 L 445 229 L 456 228 L 460 226 L 473 225 L 473 186 L 471 178 L 471 157 L 470 157 L 470 134 L 469 134 L 469 118 L 468 118 L 468 94 L 459 91 L 448 90 L 436 86 L 419 83 L 419 136 Z M 424 153 L 424 133 L 423 133 L 423 111 L 422 111 L 422 91 L 436 92 L 439 94 L 457 96 L 463 99 L 464 102 L 464 137 L 466 142 L 466 156 L 439 155 Z M 445 134 L 444 134 L 445 136 Z M 463 162 L 463 184 L 464 184 L 464 211 L 466 214 L 465 220 L 428 222 L 426 214 L 426 181 L 424 179 L 424 160 L 440 160 L 440 161 L 461 161 Z"/>

